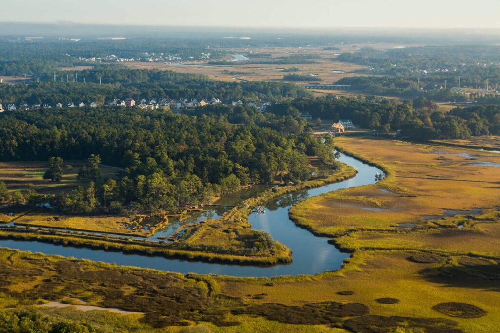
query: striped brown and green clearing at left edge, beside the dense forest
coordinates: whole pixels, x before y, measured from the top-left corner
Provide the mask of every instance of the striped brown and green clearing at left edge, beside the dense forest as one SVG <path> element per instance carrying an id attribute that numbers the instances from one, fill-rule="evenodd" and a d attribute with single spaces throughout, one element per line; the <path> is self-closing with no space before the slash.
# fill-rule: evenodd
<path id="1" fill-rule="evenodd" d="M 64 161 L 64 164 L 73 167 L 72 170 L 63 174 L 61 181 L 53 182 L 43 179 L 43 173 L 48 168 L 45 161 L 0 162 L 0 181 L 4 181 L 10 190 L 34 189 L 45 194 L 71 190 L 85 183 L 76 179 L 78 169 L 84 163 L 81 160 Z M 99 169 L 108 178 L 114 177 L 117 171 L 114 167 L 103 165 L 99 165 Z"/>

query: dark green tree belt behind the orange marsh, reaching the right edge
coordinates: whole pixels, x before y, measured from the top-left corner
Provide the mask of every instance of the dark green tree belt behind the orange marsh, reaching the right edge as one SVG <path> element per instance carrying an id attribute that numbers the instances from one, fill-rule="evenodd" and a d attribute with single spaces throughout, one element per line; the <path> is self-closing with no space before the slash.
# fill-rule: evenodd
<path id="1" fill-rule="evenodd" d="M 277 103 L 270 111 L 281 115 L 309 112 L 322 119 L 349 118 L 360 127 L 386 132 L 400 129 L 402 136 L 420 140 L 500 134 L 500 106 L 456 108 L 446 113 L 423 97 L 404 103 L 367 98 L 295 99 Z"/>

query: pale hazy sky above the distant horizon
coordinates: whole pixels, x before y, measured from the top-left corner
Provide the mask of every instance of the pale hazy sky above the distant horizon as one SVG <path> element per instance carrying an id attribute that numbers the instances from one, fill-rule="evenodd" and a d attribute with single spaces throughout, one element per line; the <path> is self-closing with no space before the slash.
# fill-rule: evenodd
<path id="1" fill-rule="evenodd" d="M 500 28 L 500 0 L 2 0 L 0 21 Z"/>

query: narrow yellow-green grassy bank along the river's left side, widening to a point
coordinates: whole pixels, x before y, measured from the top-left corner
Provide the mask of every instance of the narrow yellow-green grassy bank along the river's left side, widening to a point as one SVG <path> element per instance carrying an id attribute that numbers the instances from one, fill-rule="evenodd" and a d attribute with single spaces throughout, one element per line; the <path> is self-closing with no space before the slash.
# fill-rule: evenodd
<path id="1" fill-rule="evenodd" d="M 185 236 L 180 241 L 172 243 L 34 228 L 3 228 L 0 231 L 0 237 L 202 262 L 264 266 L 289 263 L 292 261 L 291 251 L 285 245 L 274 241 L 266 233 L 251 228 L 251 224 L 246 220 L 251 213 L 251 207 L 258 202 L 264 202 L 286 193 L 338 182 L 356 174 L 353 168 L 345 164 L 340 165 L 339 170 L 326 178 L 268 189 L 256 197 L 242 201 L 219 219 L 194 223 L 192 228 L 184 232 Z"/>

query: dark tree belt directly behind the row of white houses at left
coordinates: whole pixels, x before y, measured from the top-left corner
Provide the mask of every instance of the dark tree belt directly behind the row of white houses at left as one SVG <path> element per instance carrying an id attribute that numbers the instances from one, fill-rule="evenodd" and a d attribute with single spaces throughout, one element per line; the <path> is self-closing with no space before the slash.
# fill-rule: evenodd
<path id="1" fill-rule="evenodd" d="M 75 74 L 70 74 L 72 80 Z M 283 96 L 302 97 L 308 91 L 284 82 L 214 81 L 203 75 L 180 74 L 165 70 L 127 69 L 99 66 L 77 73 L 78 82 L 30 82 L 27 85 L 0 84 L 0 102 L 51 103 L 97 101 L 113 98 L 211 98 L 232 100 L 279 100 Z M 103 84 L 99 84 L 100 81 Z M 82 82 L 85 79 L 85 83 Z"/>

